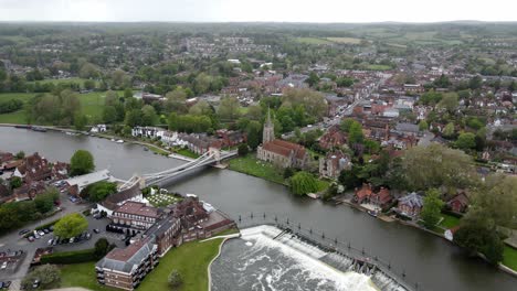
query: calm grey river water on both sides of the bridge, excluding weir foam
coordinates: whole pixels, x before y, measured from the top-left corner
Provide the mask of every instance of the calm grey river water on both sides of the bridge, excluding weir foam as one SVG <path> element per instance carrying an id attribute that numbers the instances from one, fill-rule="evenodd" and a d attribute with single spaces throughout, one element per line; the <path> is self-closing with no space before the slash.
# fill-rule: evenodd
<path id="1" fill-rule="evenodd" d="M 120 179 L 181 164 L 144 151 L 136 144 L 105 139 L 71 137 L 60 132 L 33 132 L 0 128 L 0 150 L 25 153 L 39 151 L 51 161 L 68 161 L 75 150 L 95 157 L 97 169 L 109 169 Z M 329 237 L 365 248 L 371 256 L 390 261 L 393 270 L 418 282 L 419 290 L 517 290 L 517 279 L 479 259 L 471 259 L 442 238 L 403 226 L 384 223 L 347 206 L 335 206 L 291 195 L 282 185 L 228 170 L 207 169 L 177 181 L 170 190 L 196 193 L 233 217 L 250 213 L 289 217 L 293 224 L 324 231 Z"/>

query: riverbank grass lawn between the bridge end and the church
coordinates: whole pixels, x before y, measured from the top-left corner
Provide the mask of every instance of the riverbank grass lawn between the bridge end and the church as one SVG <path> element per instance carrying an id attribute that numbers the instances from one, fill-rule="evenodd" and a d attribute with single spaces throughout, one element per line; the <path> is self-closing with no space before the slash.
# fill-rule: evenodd
<path id="1" fill-rule="evenodd" d="M 232 159 L 229 161 L 229 165 L 230 170 L 284 184 L 283 173 L 273 164 L 256 159 L 255 153 Z"/>

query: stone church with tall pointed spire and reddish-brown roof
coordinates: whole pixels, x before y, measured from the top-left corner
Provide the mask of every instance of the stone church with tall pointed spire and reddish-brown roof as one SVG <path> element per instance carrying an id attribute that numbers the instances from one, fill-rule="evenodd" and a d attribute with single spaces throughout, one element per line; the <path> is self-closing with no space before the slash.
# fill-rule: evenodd
<path id="1" fill-rule="evenodd" d="M 305 169 L 309 161 L 307 150 L 299 144 L 275 139 L 275 128 L 270 110 L 264 123 L 262 144 L 256 150 L 256 158 L 282 168 Z"/>

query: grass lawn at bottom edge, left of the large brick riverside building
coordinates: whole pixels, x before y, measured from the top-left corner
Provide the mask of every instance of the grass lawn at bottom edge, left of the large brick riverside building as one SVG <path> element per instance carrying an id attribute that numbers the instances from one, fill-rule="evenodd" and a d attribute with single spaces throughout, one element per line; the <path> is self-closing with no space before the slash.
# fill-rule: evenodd
<path id="1" fill-rule="evenodd" d="M 62 266 L 61 287 L 82 287 L 94 291 L 119 290 L 97 283 L 95 263 L 96 261 Z"/>

